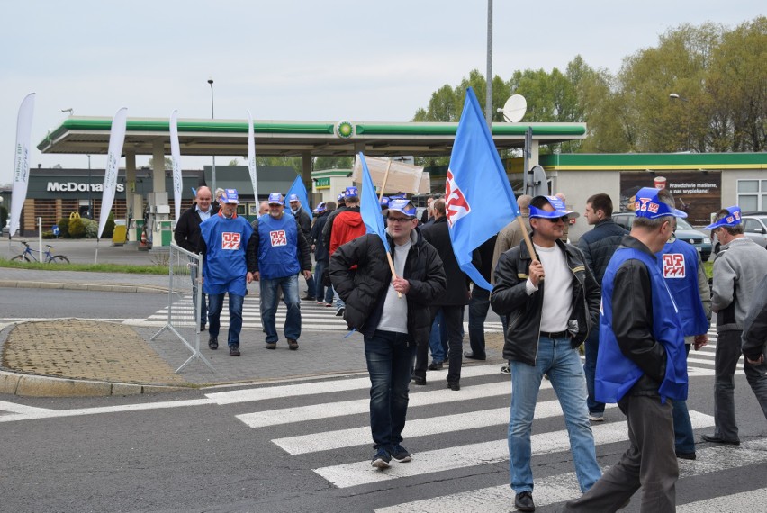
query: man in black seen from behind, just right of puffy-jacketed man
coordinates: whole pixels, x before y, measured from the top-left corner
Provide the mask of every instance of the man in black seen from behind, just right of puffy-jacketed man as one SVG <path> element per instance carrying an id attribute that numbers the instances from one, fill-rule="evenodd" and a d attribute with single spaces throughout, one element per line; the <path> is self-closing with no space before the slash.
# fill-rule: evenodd
<path id="1" fill-rule="evenodd" d="M 456 255 L 453 253 L 453 243 L 450 241 L 450 232 L 447 229 L 447 217 L 445 217 L 445 200 L 434 200 L 431 203 L 431 211 L 434 222 L 421 229 L 421 235 L 429 244 L 437 249 L 442 263 L 445 265 L 447 275 L 447 289 L 432 302 L 432 317 L 442 312 L 442 322 L 445 323 L 447 333 L 447 388 L 461 390 L 461 356 L 463 354 L 464 337 L 464 308 L 469 302 L 469 279 L 458 266 Z M 442 340 L 442 347 L 445 347 Z M 426 384 L 426 363 L 429 360 L 429 341 L 420 344 L 416 356 L 415 370 L 413 371 L 413 383 Z"/>

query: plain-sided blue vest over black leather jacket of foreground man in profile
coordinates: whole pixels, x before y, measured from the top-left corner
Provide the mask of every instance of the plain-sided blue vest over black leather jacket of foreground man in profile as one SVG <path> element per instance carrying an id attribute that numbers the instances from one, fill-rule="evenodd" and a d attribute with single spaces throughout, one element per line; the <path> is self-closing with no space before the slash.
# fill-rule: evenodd
<path id="1" fill-rule="evenodd" d="M 619 247 L 609 261 L 602 280 L 600 351 L 594 378 L 594 395 L 600 402 L 618 402 L 642 377 L 643 371 L 618 347 L 612 330 L 613 282 L 618 268 L 627 260 L 642 261 L 650 275 L 653 293 L 653 337 L 666 350 L 666 374 L 658 389 L 662 401 L 687 399 L 687 355 L 678 309 L 666 287 L 654 257 L 631 247 Z"/>

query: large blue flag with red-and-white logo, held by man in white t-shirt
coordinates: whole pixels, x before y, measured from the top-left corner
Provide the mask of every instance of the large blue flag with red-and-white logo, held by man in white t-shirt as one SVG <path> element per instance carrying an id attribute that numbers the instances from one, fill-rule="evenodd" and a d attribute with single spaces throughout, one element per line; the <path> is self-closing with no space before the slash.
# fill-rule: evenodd
<path id="1" fill-rule="evenodd" d="M 471 87 L 447 167 L 445 206 L 458 266 L 474 284 L 491 290 L 472 264 L 472 252 L 518 217 L 519 207 Z"/>

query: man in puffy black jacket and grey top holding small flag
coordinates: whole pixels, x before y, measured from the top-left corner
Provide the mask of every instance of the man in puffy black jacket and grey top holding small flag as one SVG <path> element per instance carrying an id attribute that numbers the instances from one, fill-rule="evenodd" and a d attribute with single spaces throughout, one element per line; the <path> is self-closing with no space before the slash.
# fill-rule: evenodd
<path id="1" fill-rule="evenodd" d="M 330 257 L 330 280 L 347 303 L 344 319 L 365 337 L 370 374 L 370 428 L 376 468 L 394 458 L 411 461 L 402 446 L 408 410 L 408 385 L 416 347 L 429 340 L 429 304 L 445 291 L 446 277 L 437 250 L 416 229 L 409 200 L 389 203 L 386 238 L 392 250 L 392 275 L 381 238 L 366 234 Z"/>

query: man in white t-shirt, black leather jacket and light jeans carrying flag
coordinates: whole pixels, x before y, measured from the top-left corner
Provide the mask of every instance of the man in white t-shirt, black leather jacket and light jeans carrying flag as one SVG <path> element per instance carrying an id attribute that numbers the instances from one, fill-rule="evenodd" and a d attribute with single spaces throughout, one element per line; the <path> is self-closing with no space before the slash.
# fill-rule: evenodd
<path id="1" fill-rule="evenodd" d="M 503 357 L 511 366 L 510 477 L 519 511 L 536 509 L 530 432 L 544 374 L 562 405 L 581 490 L 589 490 L 601 475 L 578 353 L 597 326 L 600 288 L 581 250 L 560 239 L 564 223 L 577 215 L 555 196 L 536 196 L 530 202 L 530 228 L 537 255 L 530 255 L 523 242 L 503 253 L 495 269 L 492 310 L 509 319 Z"/>

